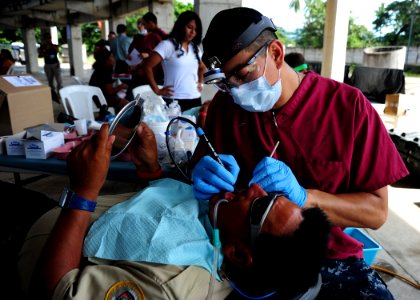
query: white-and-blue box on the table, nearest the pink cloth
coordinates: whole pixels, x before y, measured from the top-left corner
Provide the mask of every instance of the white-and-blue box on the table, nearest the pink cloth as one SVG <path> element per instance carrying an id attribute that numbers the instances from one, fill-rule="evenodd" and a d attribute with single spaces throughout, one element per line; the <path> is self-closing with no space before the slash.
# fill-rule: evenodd
<path id="1" fill-rule="evenodd" d="M 64 133 L 56 131 L 39 131 L 32 133 L 28 139 L 24 141 L 25 156 L 31 159 L 46 159 L 52 151 L 64 145 Z"/>

